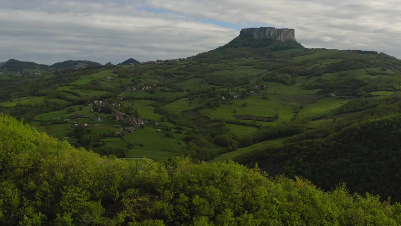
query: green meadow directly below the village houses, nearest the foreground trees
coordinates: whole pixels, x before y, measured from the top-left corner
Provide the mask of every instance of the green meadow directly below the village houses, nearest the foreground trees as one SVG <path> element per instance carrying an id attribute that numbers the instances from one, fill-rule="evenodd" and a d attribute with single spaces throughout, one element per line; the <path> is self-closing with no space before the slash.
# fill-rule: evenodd
<path id="1" fill-rule="evenodd" d="M 174 139 L 168 138 L 164 133 L 155 132 L 152 127 L 137 128 L 135 133 L 124 136 L 124 140 L 134 143 L 134 148 L 127 153 L 127 158 L 146 156 L 161 161 L 169 156 L 177 155 L 185 147 L 185 135 L 174 134 L 174 136 Z M 181 144 L 178 144 L 177 139 Z M 143 144 L 143 147 L 140 144 Z"/>

